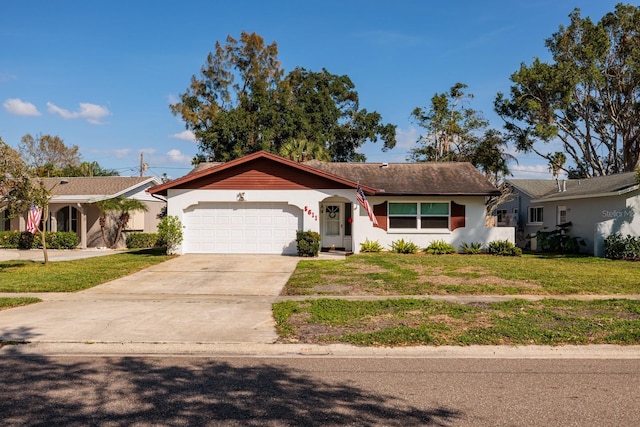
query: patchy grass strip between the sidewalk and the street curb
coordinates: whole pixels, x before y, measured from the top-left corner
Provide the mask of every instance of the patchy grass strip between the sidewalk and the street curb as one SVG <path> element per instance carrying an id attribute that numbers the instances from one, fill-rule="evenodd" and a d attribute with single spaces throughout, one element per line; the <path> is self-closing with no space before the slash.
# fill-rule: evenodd
<path id="1" fill-rule="evenodd" d="M 283 301 L 282 342 L 360 346 L 640 344 L 640 301 Z"/>

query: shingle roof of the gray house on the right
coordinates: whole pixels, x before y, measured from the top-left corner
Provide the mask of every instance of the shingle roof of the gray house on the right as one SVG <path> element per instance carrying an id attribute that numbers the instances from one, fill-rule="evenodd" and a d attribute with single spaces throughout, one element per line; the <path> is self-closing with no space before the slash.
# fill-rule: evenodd
<path id="1" fill-rule="evenodd" d="M 633 172 L 585 179 L 569 179 L 564 184 L 560 182 L 560 188 L 564 191 L 558 190 L 558 183 L 555 180 L 510 179 L 509 182 L 539 201 L 613 195 L 637 186 Z"/>

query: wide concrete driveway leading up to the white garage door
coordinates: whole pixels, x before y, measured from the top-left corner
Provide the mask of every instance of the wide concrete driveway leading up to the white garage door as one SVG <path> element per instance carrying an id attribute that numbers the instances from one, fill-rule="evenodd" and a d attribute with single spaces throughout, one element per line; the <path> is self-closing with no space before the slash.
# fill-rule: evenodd
<path id="1" fill-rule="evenodd" d="M 130 276 L 0 311 L 0 339 L 272 343 L 271 304 L 299 258 L 183 255 Z"/>

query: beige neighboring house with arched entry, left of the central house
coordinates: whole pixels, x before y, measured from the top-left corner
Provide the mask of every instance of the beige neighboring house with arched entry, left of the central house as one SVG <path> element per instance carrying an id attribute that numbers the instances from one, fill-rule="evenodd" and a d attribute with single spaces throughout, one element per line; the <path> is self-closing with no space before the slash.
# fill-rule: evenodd
<path id="1" fill-rule="evenodd" d="M 147 205 L 147 212 L 132 212 L 126 231 L 156 232 L 158 214 L 166 206 L 162 199 L 154 198 L 146 190 L 160 184 L 150 177 L 70 177 L 43 178 L 50 189 L 47 230 L 74 231 L 80 239 L 80 248 L 104 246 L 100 231 L 100 211 L 95 202 L 114 197 L 138 199 Z M 2 230 L 26 230 L 27 216 L 8 218 L 0 205 Z M 109 218 L 113 224 L 114 218 Z M 113 229 L 113 227 L 110 227 Z M 124 242 L 119 242 L 120 246 Z"/>

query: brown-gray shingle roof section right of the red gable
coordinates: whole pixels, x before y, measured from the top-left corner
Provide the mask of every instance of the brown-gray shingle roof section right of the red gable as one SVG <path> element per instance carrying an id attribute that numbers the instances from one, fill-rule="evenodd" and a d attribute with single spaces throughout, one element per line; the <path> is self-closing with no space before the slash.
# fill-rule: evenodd
<path id="1" fill-rule="evenodd" d="M 306 165 L 382 190 L 390 195 L 497 195 L 471 163 L 330 163 Z"/>

